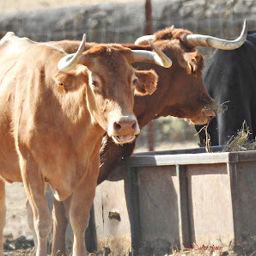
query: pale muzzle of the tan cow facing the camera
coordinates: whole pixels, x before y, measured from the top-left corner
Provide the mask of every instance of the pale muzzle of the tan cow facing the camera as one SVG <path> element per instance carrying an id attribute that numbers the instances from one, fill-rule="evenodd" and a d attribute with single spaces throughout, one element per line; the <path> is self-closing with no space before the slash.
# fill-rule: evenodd
<path id="1" fill-rule="evenodd" d="M 113 137 L 115 143 L 131 143 L 139 132 L 140 129 L 136 117 L 129 115 L 119 119 L 112 119 L 108 129 L 108 136 Z"/>

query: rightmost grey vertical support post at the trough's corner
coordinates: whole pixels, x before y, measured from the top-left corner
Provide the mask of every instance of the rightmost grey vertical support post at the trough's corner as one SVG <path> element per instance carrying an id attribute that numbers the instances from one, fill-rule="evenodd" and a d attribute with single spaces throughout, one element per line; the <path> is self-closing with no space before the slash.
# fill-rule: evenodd
<path id="1" fill-rule="evenodd" d="M 235 153 L 236 154 L 236 153 Z M 233 210 L 233 227 L 235 244 L 241 243 L 241 210 L 238 191 L 238 177 L 236 162 L 228 162 L 227 169 L 230 179 L 231 202 Z"/>

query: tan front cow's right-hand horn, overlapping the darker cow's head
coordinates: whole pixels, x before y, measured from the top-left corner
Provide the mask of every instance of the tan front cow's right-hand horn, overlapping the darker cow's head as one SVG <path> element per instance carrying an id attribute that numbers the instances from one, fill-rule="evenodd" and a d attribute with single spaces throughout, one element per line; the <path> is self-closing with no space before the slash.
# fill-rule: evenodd
<path id="1" fill-rule="evenodd" d="M 153 47 L 155 52 L 149 52 L 144 50 L 132 50 L 134 62 L 148 62 L 160 65 L 164 68 L 169 68 L 172 65 L 172 61 L 168 58 L 157 46 L 149 41 L 149 44 Z"/>

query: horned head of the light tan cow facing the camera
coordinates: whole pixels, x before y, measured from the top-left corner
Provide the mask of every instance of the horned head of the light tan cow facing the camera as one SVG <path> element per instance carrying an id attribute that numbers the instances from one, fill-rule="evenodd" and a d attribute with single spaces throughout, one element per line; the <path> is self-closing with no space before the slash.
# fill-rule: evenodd
<path id="1" fill-rule="evenodd" d="M 133 96 L 152 94 L 158 77 L 153 70 L 134 70 L 131 64 L 139 61 L 169 67 L 171 60 L 161 52 L 131 51 L 117 44 L 97 45 L 83 52 L 84 43 L 85 38 L 76 53 L 59 61 L 60 71 L 54 75 L 59 91 L 84 87 L 93 122 L 116 143 L 131 143 L 140 131 Z"/>

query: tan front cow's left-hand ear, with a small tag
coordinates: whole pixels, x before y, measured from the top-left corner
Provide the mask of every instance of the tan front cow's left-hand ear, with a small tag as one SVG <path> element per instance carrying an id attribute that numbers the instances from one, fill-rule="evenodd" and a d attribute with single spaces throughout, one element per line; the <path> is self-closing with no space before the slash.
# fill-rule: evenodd
<path id="1" fill-rule="evenodd" d="M 82 84 L 88 81 L 87 72 L 79 69 L 68 72 L 58 71 L 52 78 L 56 82 L 58 92 L 63 95 L 76 91 L 82 87 Z"/>

